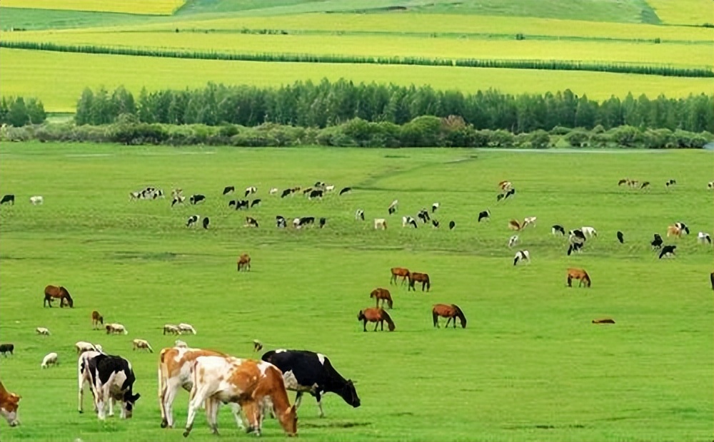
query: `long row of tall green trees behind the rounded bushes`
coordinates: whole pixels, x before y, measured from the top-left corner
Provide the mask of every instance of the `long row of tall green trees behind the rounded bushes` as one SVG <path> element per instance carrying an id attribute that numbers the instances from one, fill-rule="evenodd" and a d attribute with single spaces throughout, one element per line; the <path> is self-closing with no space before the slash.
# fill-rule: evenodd
<path id="1" fill-rule="evenodd" d="M 114 92 L 86 88 L 76 108 L 76 123 L 106 124 L 119 115 L 136 115 L 144 123 L 224 123 L 256 126 L 278 123 L 325 128 L 353 118 L 402 125 L 422 115 L 459 115 L 477 130 L 528 133 L 558 126 L 609 129 L 620 125 L 714 132 L 714 96 L 660 95 L 605 101 L 563 92 L 511 95 L 493 89 L 476 93 L 436 91 L 431 86 L 396 86 L 341 79 L 319 83 L 298 81 L 281 88 L 224 86 L 183 91 L 141 91 L 138 99 L 124 87 Z"/>

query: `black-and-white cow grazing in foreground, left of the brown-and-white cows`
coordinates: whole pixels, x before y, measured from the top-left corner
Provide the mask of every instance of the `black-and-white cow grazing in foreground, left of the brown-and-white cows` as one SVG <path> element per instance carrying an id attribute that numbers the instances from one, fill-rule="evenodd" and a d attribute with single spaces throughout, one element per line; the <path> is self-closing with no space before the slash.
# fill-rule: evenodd
<path id="1" fill-rule="evenodd" d="M 121 356 L 111 356 L 99 351 L 85 351 L 77 362 L 79 383 L 79 412 L 82 413 L 84 384 L 89 382 L 94 396 L 94 410 L 101 420 L 106 419 L 106 402 L 109 402 L 109 416 L 114 416 L 114 403 L 121 401 L 121 418 L 131 418 L 140 394 L 134 394 L 134 370 L 131 363 Z"/>

